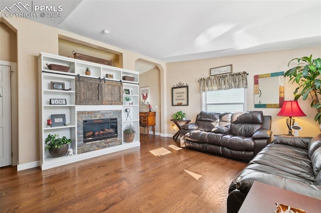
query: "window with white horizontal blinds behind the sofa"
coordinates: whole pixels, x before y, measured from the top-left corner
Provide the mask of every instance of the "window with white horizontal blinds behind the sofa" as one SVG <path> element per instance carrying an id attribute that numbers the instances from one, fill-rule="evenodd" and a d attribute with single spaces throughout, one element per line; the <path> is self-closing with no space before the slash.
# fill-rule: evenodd
<path id="1" fill-rule="evenodd" d="M 244 111 L 244 88 L 207 91 L 203 94 L 203 110 L 211 112 Z"/>

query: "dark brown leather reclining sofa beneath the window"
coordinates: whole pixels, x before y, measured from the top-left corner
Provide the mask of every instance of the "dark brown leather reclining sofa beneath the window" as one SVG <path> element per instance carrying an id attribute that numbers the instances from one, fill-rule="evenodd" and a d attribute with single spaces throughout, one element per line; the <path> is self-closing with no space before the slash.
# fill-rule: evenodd
<path id="1" fill-rule="evenodd" d="M 271 116 L 262 111 L 206 112 L 182 125 L 181 147 L 251 160 L 271 141 Z"/>

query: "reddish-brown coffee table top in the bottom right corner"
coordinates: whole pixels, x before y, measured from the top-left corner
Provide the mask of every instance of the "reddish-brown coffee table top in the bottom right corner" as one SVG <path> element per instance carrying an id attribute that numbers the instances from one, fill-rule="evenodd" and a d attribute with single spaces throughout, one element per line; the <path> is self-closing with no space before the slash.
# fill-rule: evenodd
<path id="1" fill-rule="evenodd" d="M 319 199 L 254 181 L 238 212 L 273 213 L 276 210 L 275 202 L 303 209 L 307 213 L 320 212 L 321 209 L 321 200 Z"/>

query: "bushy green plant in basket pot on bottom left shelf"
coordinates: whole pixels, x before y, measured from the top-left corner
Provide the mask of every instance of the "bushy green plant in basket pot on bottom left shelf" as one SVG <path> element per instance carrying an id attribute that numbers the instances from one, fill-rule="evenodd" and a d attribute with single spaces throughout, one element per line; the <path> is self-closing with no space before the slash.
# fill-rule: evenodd
<path id="1" fill-rule="evenodd" d="M 52 157 L 61 157 L 67 153 L 71 142 L 71 139 L 67 139 L 66 136 L 59 137 L 59 134 L 48 134 L 45 140 L 45 150 L 49 149 Z"/>

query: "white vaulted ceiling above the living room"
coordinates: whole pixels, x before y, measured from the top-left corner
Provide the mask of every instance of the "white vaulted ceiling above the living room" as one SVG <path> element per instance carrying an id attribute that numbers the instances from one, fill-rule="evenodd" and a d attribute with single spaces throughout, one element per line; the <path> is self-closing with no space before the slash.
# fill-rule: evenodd
<path id="1" fill-rule="evenodd" d="M 321 45 L 320 0 L 50 2 L 61 18 L 31 19 L 165 62 Z"/>

